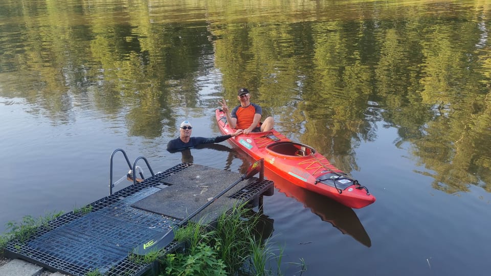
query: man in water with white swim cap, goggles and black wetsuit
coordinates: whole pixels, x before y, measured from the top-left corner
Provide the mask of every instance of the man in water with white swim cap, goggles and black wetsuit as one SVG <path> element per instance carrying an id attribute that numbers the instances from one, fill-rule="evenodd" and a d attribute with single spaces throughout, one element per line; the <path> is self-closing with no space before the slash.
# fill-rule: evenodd
<path id="1" fill-rule="evenodd" d="M 212 144 L 212 143 L 220 143 L 229 139 L 230 137 L 237 136 L 242 133 L 242 129 L 238 129 L 232 134 L 216 136 L 214 138 L 205 138 L 205 137 L 191 137 L 192 126 L 189 121 L 184 121 L 180 126 L 180 136 L 174 140 L 169 141 L 167 144 L 168 151 L 177 151 L 183 150 L 187 148 L 196 147 L 200 144 Z"/>

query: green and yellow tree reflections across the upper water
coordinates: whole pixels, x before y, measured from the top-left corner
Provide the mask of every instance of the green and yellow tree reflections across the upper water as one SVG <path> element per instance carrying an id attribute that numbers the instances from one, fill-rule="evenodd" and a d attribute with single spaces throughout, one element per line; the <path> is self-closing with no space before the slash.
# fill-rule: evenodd
<path id="1" fill-rule="evenodd" d="M 250 88 L 279 130 L 345 171 L 358 169 L 352 149 L 383 122 L 435 189 L 491 191 L 490 6 L 7 0 L 0 96 L 55 123 L 73 120 L 74 106 L 94 108 L 153 139 L 175 126 L 176 110 L 216 102 L 199 95 L 199 78 L 216 68 L 225 94 L 214 96 L 236 103 L 236 89 Z"/>

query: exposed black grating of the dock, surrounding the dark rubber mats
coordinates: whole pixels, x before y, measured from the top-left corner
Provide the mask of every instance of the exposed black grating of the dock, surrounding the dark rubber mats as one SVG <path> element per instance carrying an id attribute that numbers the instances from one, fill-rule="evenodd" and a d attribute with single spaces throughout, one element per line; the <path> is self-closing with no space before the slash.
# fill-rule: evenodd
<path id="1" fill-rule="evenodd" d="M 179 221 L 132 208 L 130 204 L 157 191 L 159 188 L 155 187 L 162 185 L 163 178 L 191 165 L 183 163 L 174 166 L 137 185 L 99 199 L 90 204 L 91 213 L 70 212 L 56 218 L 47 226 L 38 227 L 37 233 L 27 242 L 9 242 L 7 257 L 25 259 L 50 270 L 76 276 L 85 275 L 95 268 L 104 275 L 142 275 L 152 265 L 133 261 L 128 257 L 129 252 L 139 244 L 138 240 L 147 240 L 155 233 L 167 231 Z M 267 195 L 267 191 L 272 189 L 272 181 L 256 180 L 232 198 L 250 200 L 259 194 Z M 78 231 L 71 229 L 72 226 Z M 118 230 L 111 232 L 110 229 L 115 228 Z M 97 234 L 91 235 L 91 232 Z M 64 243 L 66 248 L 62 248 Z M 181 243 L 172 242 L 165 250 L 173 252 L 182 246 Z"/>

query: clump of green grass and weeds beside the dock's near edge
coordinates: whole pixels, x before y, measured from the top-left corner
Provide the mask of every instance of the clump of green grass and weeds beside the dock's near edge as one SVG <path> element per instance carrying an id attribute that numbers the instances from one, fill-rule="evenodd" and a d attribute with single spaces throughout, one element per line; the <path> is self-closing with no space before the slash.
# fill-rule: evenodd
<path id="1" fill-rule="evenodd" d="M 162 270 L 165 275 L 282 275 L 283 248 L 263 240 L 256 231 L 259 220 L 240 204 L 220 215 L 211 230 L 202 221 L 188 223 L 175 232 L 175 240 L 187 244 L 185 253 L 167 254 Z M 270 265 L 275 261 L 276 271 Z M 306 271 L 303 259 L 289 264 L 300 267 L 298 275 Z"/>

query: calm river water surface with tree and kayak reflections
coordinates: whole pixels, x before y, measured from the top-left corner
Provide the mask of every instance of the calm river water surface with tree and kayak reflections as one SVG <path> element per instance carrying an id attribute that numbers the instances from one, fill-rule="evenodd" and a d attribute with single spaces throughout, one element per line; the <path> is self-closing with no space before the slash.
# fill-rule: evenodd
<path id="1" fill-rule="evenodd" d="M 482 0 L 4 0 L 2 232 L 106 196 L 116 148 L 181 163 L 178 125 L 219 135 L 214 109 L 243 86 L 377 198 L 353 210 L 266 172 L 283 274 L 303 258 L 303 275 L 489 275 L 490 18 Z M 191 154 L 251 161 L 226 142 Z"/>

